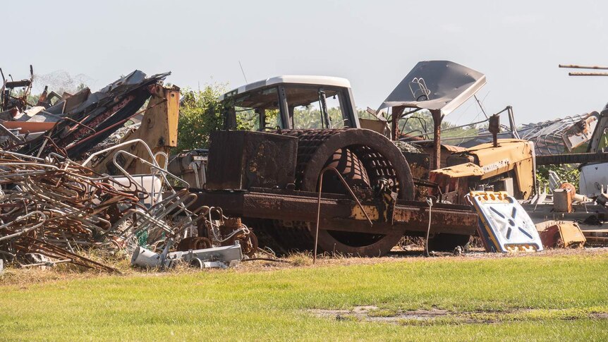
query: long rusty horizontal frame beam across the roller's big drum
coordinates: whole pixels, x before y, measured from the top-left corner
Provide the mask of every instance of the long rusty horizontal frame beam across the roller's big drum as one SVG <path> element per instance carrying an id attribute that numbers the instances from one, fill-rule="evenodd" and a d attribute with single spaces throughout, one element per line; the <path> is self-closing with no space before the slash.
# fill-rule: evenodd
<path id="1" fill-rule="evenodd" d="M 269 190 L 252 188 L 243 191 L 201 191 L 195 205 L 212 205 L 224 208 L 224 213 L 248 219 L 315 222 L 317 193 L 296 190 Z M 392 220 L 375 215 L 375 204 L 363 202 L 373 225 L 360 208 L 346 195 L 323 194 L 321 200 L 322 231 L 348 231 L 384 235 L 418 236 L 426 233 L 429 224 L 429 207 L 426 202 L 398 200 Z M 391 222 L 392 221 L 392 222 Z M 456 204 L 434 204 L 431 216 L 431 234 L 452 233 L 473 235 L 478 216 L 470 207 Z M 314 225 L 308 225 L 314 234 Z M 371 245 L 359 250 L 365 256 L 384 255 L 394 246 Z M 312 246 L 305 246 L 312 248 Z M 325 248 L 327 250 L 327 248 Z"/>

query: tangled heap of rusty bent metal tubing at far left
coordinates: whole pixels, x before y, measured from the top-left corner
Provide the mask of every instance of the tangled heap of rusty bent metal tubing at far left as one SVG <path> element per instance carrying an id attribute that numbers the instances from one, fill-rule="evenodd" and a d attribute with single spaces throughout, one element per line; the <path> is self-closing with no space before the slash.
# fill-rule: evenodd
<path id="1" fill-rule="evenodd" d="M 203 206 L 190 212 L 196 195 L 175 191 L 167 178 L 171 174 L 150 166 L 157 170 L 150 176 L 118 177 L 100 175 L 54 152 L 44 159 L 0 152 L 2 258 L 22 267 L 72 262 L 116 271 L 79 251 L 130 253 L 178 242 L 182 251 L 236 243 L 248 255 L 255 252 L 255 236 L 246 226 L 230 229 L 221 209 Z M 152 192 L 142 187 L 145 178 L 157 186 Z"/>

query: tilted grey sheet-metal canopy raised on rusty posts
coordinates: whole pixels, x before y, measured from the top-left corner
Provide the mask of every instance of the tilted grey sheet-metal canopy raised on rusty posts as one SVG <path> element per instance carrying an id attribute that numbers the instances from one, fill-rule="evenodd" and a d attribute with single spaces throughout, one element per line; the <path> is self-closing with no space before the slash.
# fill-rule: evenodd
<path id="1" fill-rule="evenodd" d="M 394 106 L 439 110 L 447 115 L 486 83 L 485 75 L 451 61 L 421 61 L 382 102 Z"/>

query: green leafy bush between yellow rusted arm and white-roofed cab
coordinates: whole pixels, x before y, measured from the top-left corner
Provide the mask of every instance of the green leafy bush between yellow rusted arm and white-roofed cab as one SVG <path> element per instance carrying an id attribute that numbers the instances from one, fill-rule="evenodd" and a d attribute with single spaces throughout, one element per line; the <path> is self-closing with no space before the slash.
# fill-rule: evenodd
<path id="1" fill-rule="evenodd" d="M 224 85 L 207 85 L 202 90 L 182 90 L 180 106 L 178 151 L 209 147 L 209 134 L 221 129 L 219 95 Z"/>

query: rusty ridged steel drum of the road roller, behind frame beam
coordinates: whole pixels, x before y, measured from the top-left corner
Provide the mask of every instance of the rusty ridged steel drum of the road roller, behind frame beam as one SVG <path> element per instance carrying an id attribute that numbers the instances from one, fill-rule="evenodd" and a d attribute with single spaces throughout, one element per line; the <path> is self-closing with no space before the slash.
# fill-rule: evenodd
<path id="1" fill-rule="evenodd" d="M 414 185 L 408 162 L 387 138 L 364 129 L 283 130 L 298 138 L 296 189 L 317 192 L 321 171 L 336 168 L 351 188 L 374 188 L 387 184 L 403 200 L 412 200 Z M 346 189 L 335 175 L 324 176 L 323 193 L 344 193 Z M 315 223 L 272 221 L 264 228 L 284 250 L 312 250 Z M 343 255 L 384 255 L 399 241 L 403 232 L 379 234 L 332 231 L 319 232 L 319 248 Z"/>

